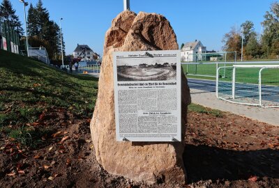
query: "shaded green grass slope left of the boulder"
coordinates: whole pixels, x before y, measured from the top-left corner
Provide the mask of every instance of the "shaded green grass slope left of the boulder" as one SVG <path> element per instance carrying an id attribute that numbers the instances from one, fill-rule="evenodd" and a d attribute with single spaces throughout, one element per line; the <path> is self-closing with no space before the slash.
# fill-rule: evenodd
<path id="1" fill-rule="evenodd" d="M 0 83 L 0 131 L 15 138 L 25 135 L 24 141 L 36 135 L 36 129 L 27 125 L 39 121 L 47 109 L 64 109 L 73 116 L 91 118 L 98 91 L 96 78 L 70 75 L 3 50 Z"/>

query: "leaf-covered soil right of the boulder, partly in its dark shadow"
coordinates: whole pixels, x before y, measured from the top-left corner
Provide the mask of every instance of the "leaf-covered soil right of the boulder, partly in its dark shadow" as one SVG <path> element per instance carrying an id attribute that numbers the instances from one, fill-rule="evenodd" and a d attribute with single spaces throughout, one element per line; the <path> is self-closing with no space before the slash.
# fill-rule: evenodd
<path id="1" fill-rule="evenodd" d="M 232 113 L 214 117 L 190 112 L 188 117 L 184 153 L 188 183 L 278 187 L 279 127 Z"/>

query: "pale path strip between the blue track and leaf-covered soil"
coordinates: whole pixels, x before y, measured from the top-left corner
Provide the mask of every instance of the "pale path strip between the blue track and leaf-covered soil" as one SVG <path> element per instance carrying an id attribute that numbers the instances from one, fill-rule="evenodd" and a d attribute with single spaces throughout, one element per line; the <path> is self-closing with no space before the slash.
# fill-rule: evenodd
<path id="1" fill-rule="evenodd" d="M 253 120 L 269 123 L 271 125 L 279 126 L 279 109 L 264 109 L 261 107 L 247 106 L 243 104 L 232 104 L 223 100 L 218 100 L 215 93 L 209 91 L 201 91 L 197 89 L 190 89 L 192 102 L 200 104 L 211 109 L 218 109 L 220 111 L 228 111 L 240 116 L 246 116 Z"/>

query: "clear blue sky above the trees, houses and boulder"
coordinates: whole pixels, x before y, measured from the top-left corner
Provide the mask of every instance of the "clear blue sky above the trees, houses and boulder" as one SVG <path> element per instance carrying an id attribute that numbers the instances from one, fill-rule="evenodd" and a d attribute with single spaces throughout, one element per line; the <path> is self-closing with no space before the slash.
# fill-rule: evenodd
<path id="1" fill-rule="evenodd" d="M 36 5 L 38 0 L 26 0 Z M 23 5 L 11 0 L 13 8 L 24 23 Z M 159 13 L 169 19 L 176 33 L 179 46 L 182 42 L 201 40 L 208 50 L 220 51 L 225 33 L 232 26 L 250 20 L 255 31 L 261 32 L 261 22 L 273 0 L 130 0 L 135 13 Z M 94 52 L 103 54 L 105 32 L 112 19 L 123 10 L 123 0 L 43 0 L 43 6 L 50 12 L 50 19 L 59 24 L 66 42 L 66 54 L 71 54 L 77 43 L 89 45 Z M 29 8 L 29 6 L 27 7 Z"/>

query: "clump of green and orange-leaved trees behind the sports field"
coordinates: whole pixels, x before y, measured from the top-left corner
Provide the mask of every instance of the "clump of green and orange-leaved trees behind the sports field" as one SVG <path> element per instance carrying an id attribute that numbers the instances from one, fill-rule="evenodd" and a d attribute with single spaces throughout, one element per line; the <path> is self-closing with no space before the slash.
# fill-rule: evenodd
<path id="1" fill-rule="evenodd" d="M 225 34 L 222 42 L 223 50 L 237 52 L 241 56 L 241 40 L 243 37 L 243 57 L 251 58 L 277 58 L 279 55 L 279 2 L 272 3 L 269 11 L 264 15 L 262 22 L 264 32 L 259 36 L 255 32 L 254 24 L 246 21 L 241 29 L 232 27 Z"/>

